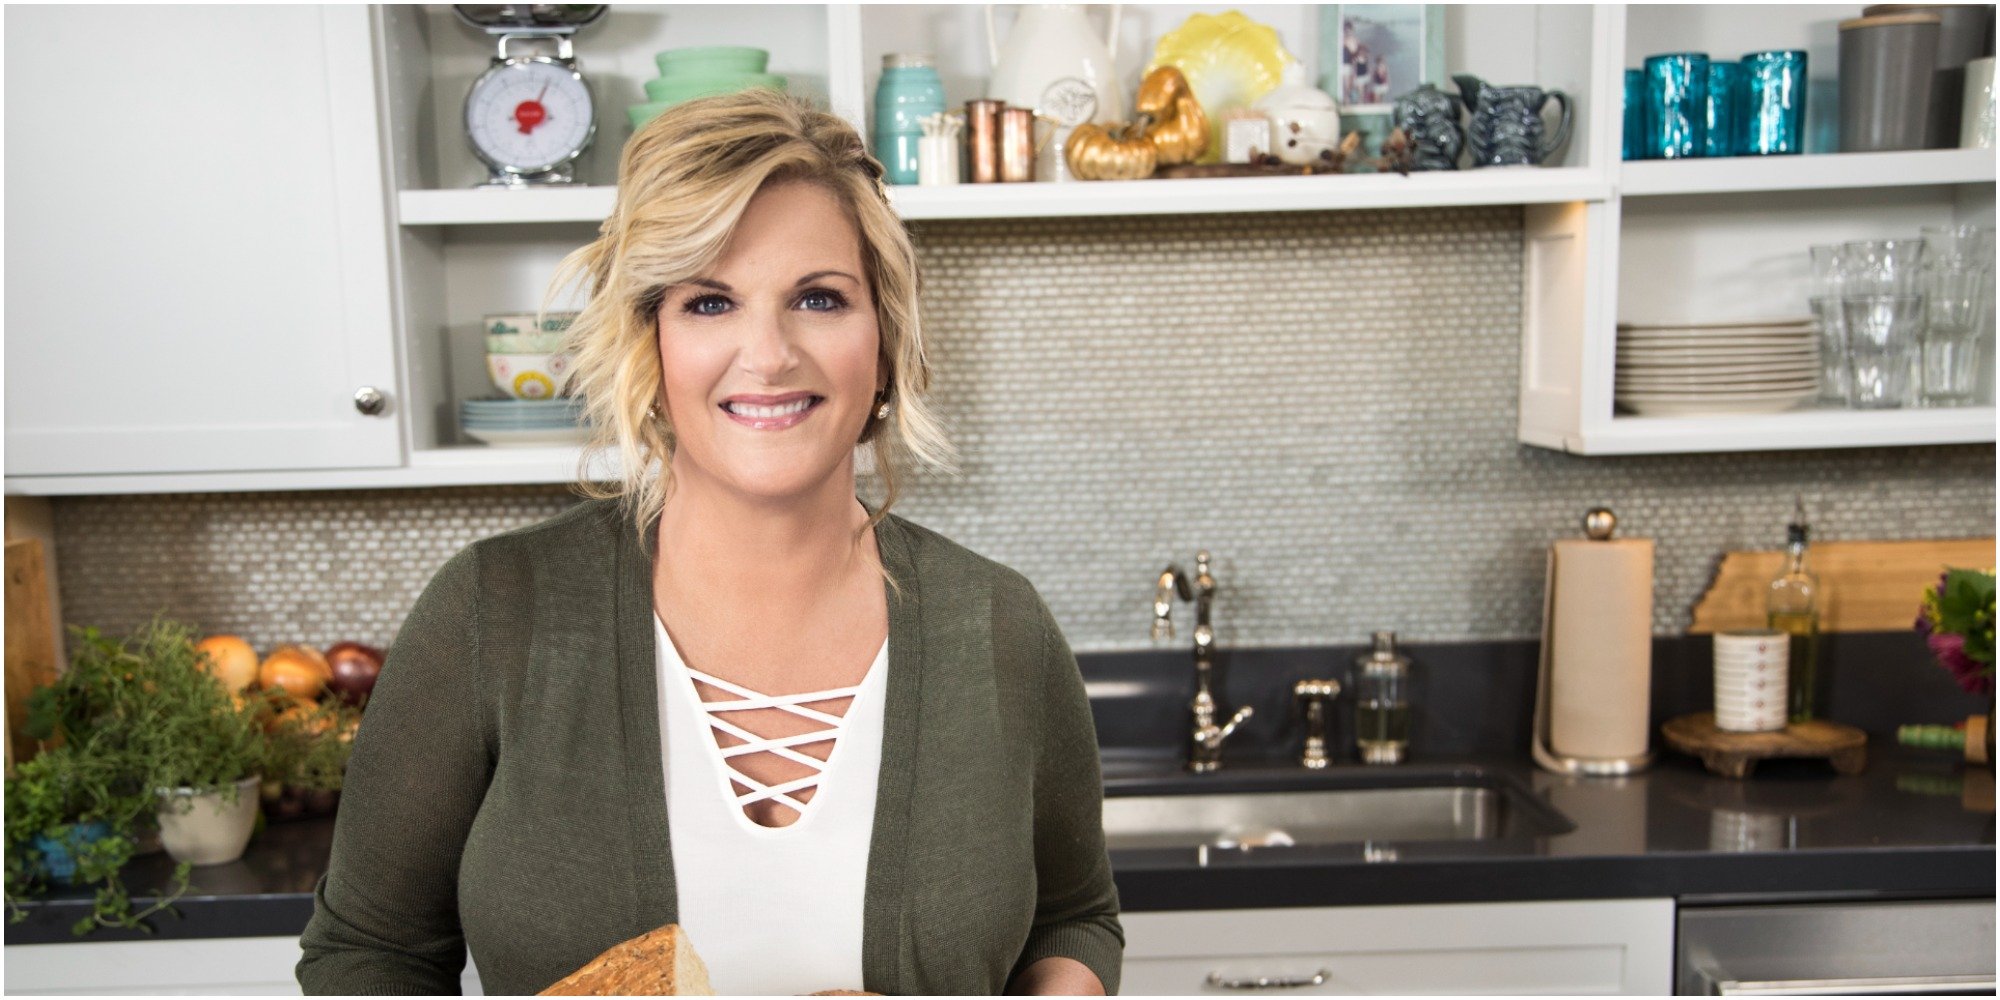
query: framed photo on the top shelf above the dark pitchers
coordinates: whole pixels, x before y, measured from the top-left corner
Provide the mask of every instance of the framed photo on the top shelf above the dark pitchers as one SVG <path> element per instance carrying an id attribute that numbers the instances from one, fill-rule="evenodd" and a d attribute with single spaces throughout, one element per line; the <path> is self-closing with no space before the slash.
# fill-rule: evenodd
<path id="1" fill-rule="evenodd" d="M 1378 156 L 1396 98 L 1444 84 L 1444 4 L 1322 4 L 1320 90 L 1340 106 L 1340 130 Z"/>

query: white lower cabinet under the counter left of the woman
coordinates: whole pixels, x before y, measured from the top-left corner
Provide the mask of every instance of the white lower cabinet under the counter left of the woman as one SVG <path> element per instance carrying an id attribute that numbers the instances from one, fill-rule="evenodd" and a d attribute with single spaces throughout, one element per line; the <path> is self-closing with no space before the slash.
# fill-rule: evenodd
<path id="1" fill-rule="evenodd" d="M 298 996 L 298 938 L 10 944 L 6 992 L 42 996 Z M 458 982 L 482 996 L 466 958 Z"/>

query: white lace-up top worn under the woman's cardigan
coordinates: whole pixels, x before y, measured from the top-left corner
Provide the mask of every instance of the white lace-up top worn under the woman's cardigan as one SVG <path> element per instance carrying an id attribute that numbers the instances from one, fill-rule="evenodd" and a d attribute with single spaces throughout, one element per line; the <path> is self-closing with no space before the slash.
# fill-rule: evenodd
<path id="1" fill-rule="evenodd" d="M 882 768 L 882 696 L 888 642 L 852 688 L 758 694 L 694 670 L 654 616 L 666 814 L 680 926 L 708 964 L 718 994 L 806 994 L 862 988 L 862 894 Z M 702 684 L 730 700 L 704 702 Z M 844 714 L 812 708 L 848 698 Z M 730 716 L 782 708 L 820 728 L 766 738 Z M 722 748 L 716 732 L 738 740 Z M 804 744 L 834 740 L 828 760 Z M 764 786 L 732 762 L 768 752 L 814 768 Z M 744 792 L 738 790 L 746 788 Z M 814 788 L 800 802 L 798 792 Z M 776 800 L 790 826 L 762 826 L 744 808 Z"/>

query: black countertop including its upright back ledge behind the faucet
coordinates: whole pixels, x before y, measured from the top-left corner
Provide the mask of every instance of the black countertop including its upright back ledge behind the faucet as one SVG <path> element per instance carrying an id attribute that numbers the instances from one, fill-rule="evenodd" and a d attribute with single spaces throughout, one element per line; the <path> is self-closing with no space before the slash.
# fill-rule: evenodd
<path id="1" fill-rule="evenodd" d="M 1708 640 L 1654 646 L 1654 718 L 1708 702 Z M 1914 634 L 1826 636 L 1832 718 L 1870 734 L 1868 770 L 1770 760 L 1748 780 L 1706 774 L 1662 752 L 1628 778 L 1566 778 L 1526 758 L 1534 644 L 1416 648 L 1412 760 L 1394 768 L 1292 758 L 1302 720 L 1282 692 L 1302 676 L 1340 676 L 1358 650 L 1236 650 L 1218 664 L 1224 706 L 1256 716 L 1214 774 L 1178 766 L 1192 668 L 1184 650 L 1080 656 L 1104 748 L 1106 796 L 1478 786 L 1500 802 L 1488 836 L 1466 840 L 1288 846 L 1250 852 L 1114 848 L 1126 910 L 1362 906 L 1672 896 L 1682 904 L 1994 894 L 1994 772 L 1948 754 L 1894 746 L 1900 722 L 1954 722 L 1984 700 L 1958 692 Z M 1334 746 L 1348 746 L 1336 712 Z M 1164 750 L 1174 746 L 1176 750 Z M 272 824 L 230 864 L 194 870 L 180 916 L 150 938 L 296 936 L 312 916 L 332 820 Z M 166 884 L 164 856 L 136 860 L 136 896 Z M 140 900 L 144 904 L 144 900 Z M 146 940 L 138 932 L 72 938 L 90 912 L 82 892 L 26 904 L 6 944 Z"/>

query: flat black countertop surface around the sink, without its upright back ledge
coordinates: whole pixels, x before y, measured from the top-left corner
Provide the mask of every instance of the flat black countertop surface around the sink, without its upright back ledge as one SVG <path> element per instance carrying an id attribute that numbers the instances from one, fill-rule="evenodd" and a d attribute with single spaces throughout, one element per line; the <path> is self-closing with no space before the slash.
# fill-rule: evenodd
<path id="1" fill-rule="evenodd" d="M 1688 904 L 1896 896 L 1992 896 L 1994 774 L 1944 754 L 1876 742 L 1864 774 L 1820 762 L 1766 762 L 1750 780 L 1716 778 L 1692 758 L 1662 756 L 1630 778 L 1564 778 L 1524 760 L 1412 760 L 1396 768 L 1306 772 L 1282 760 L 1236 760 L 1186 774 L 1158 752 L 1106 752 L 1108 796 L 1454 784 L 1500 792 L 1494 836 L 1250 852 L 1112 850 L 1124 910 L 1362 906 L 1492 900 L 1674 896 Z M 194 888 L 152 938 L 296 936 L 312 916 L 332 820 L 272 824 L 232 864 L 194 870 Z M 170 864 L 140 858 L 134 890 Z M 72 938 L 82 892 L 28 904 L 6 944 L 146 940 L 134 932 Z"/>

